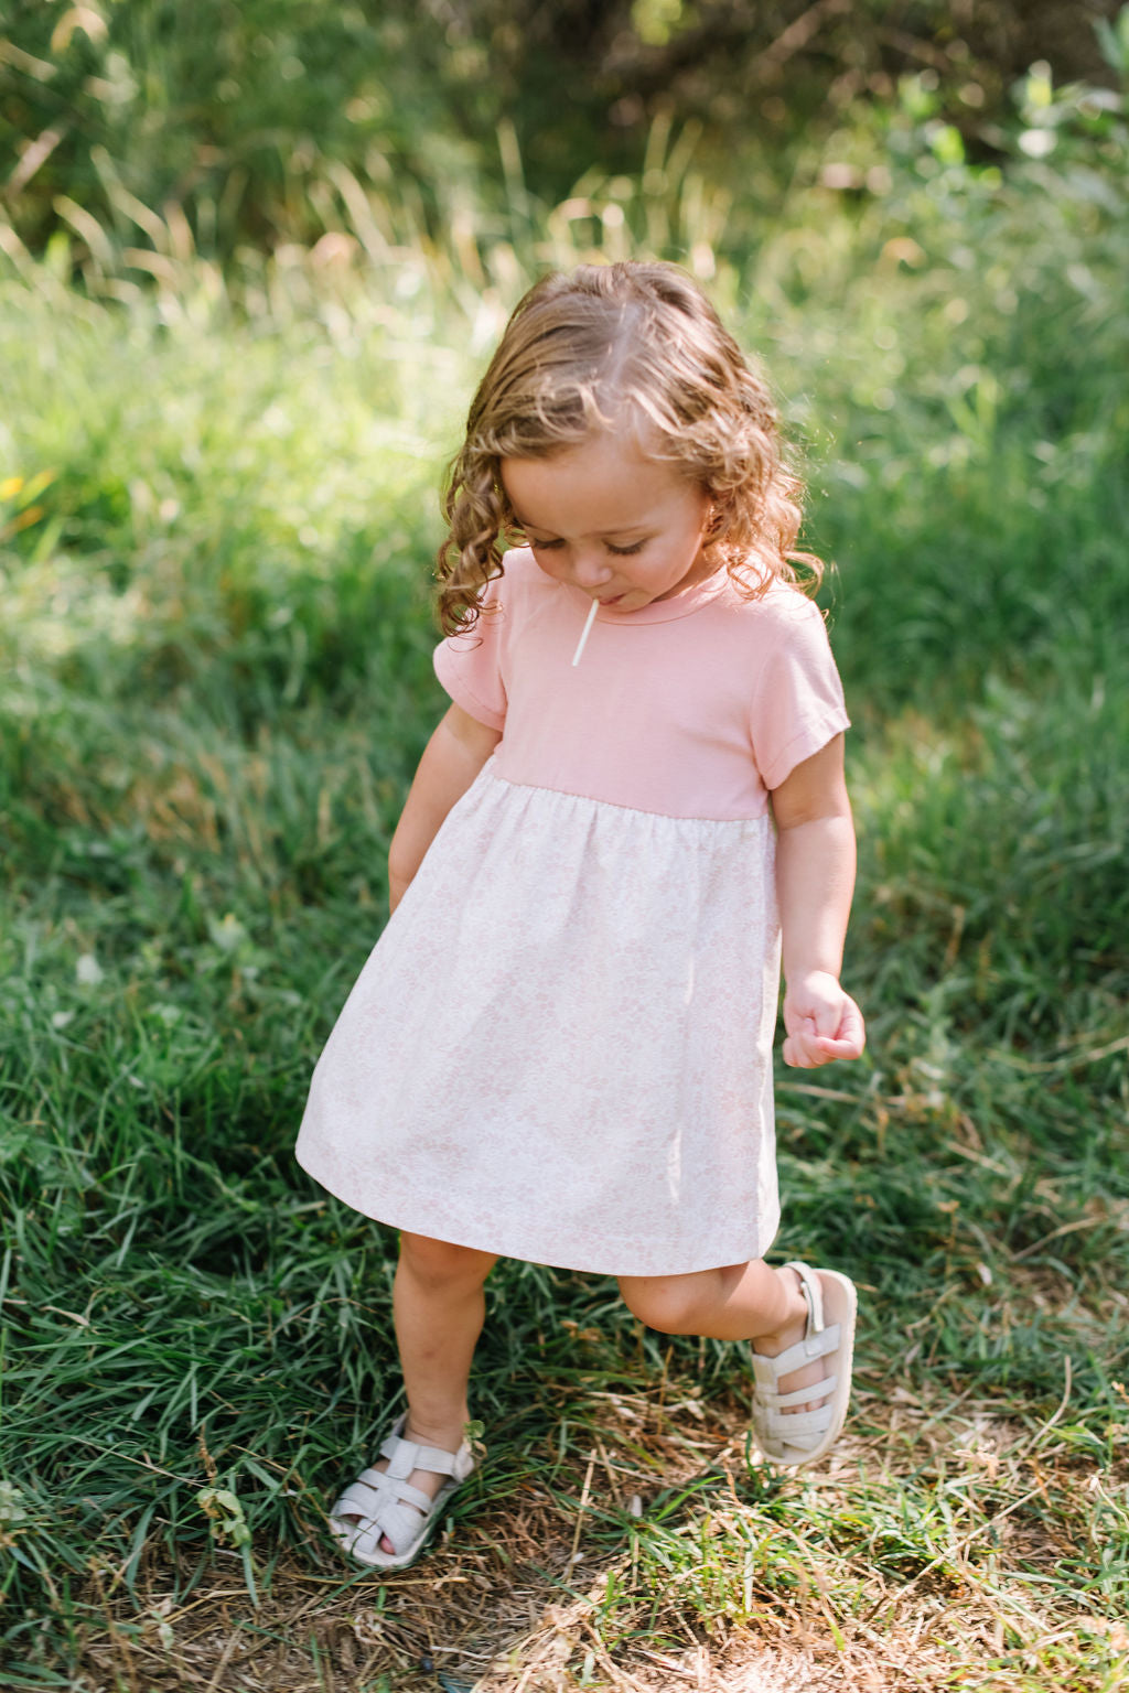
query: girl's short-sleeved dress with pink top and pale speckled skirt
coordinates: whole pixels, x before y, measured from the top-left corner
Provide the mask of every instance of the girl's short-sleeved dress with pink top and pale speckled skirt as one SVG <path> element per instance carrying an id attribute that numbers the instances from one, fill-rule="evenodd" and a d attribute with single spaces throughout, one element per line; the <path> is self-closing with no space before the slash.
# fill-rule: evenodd
<path id="1" fill-rule="evenodd" d="M 450 698 L 501 730 L 318 1060 L 298 1160 L 366 1216 L 606 1275 L 779 1224 L 768 792 L 846 728 L 823 618 L 718 572 L 601 611 L 511 552 Z"/>

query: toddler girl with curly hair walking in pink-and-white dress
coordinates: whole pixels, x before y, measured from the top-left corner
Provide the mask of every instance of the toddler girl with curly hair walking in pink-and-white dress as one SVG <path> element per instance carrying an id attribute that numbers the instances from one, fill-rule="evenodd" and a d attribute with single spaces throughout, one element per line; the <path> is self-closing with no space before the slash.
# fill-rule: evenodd
<path id="1" fill-rule="evenodd" d="M 472 1468 L 503 1253 L 618 1277 L 669 1334 L 752 1341 L 774 1463 L 843 1426 L 855 1290 L 762 1256 L 780 940 L 785 1063 L 863 1050 L 838 979 L 848 720 L 789 565 L 818 576 L 797 496 L 763 384 L 677 267 L 582 266 L 520 303 L 445 499 L 452 704 L 298 1139 L 401 1231 L 408 1410 L 332 1512 L 361 1563 L 410 1563 Z"/>

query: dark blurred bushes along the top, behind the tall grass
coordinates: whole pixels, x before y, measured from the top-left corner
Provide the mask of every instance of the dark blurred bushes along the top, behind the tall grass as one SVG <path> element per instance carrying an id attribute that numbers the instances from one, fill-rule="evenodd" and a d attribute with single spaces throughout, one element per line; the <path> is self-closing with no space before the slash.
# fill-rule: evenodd
<path id="1" fill-rule="evenodd" d="M 677 125 L 763 217 L 812 135 L 843 124 L 833 186 L 880 193 L 907 103 L 950 161 L 1004 161 L 1033 64 L 1117 86 L 1115 15 L 1117 0 L 8 0 L 3 205 L 32 251 L 86 217 L 144 252 L 161 210 L 225 262 L 313 244 L 357 183 L 408 198 L 432 234 L 525 191 L 555 205 L 591 168 L 645 169 L 655 125 Z"/>

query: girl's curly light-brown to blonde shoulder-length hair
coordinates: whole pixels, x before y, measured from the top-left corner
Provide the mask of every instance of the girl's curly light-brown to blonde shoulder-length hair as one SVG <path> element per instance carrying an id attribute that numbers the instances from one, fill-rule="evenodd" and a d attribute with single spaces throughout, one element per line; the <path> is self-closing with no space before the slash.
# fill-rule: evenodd
<path id="1" fill-rule="evenodd" d="M 775 406 L 701 288 L 674 264 L 582 264 L 530 288 L 471 403 L 435 571 L 447 635 L 474 626 L 503 574 L 503 537 L 521 535 L 503 459 L 577 447 L 625 413 L 648 455 L 708 494 L 706 545 L 745 598 L 797 581 L 797 564 L 818 587 L 821 560 L 796 552 L 804 489 L 784 464 Z"/>

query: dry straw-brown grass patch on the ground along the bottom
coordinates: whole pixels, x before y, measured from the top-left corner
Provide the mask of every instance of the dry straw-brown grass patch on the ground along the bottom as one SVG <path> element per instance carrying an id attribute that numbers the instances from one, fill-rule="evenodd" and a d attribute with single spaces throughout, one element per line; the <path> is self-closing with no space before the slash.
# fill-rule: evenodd
<path id="1" fill-rule="evenodd" d="M 811 1481 L 787 1481 L 768 1534 L 785 1549 L 767 1580 L 743 1534 L 748 1498 L 740 1409 L 662 1388 L 589 1400 L 592 1446 L 567 1495 L 518 1480 L 449 1524 L 411 1571 L 379 1583 L 333 1568 L 327 1546 L 279 1564 L 257 1610 L 237 1559 L 181 1605 L 152 1559 L 132 1605 L 110 1571 L 93 1580 L 88 1693 L 1112 1693 L 1129 1685 L 1129 1630 L 1058 1581 L 1093 1552 L 1087 1500 L 1126 1486 L 1056 1437 L 990 1402 L 924 1403 L 858 1393 L 858 1417 Z M 1063 1407 L 1066 1405 L 1066 1397 Z M 890 1524 L 921 1510 L 929 1480 L 963 1500 L 914 1549 L 889 1556 Z M 709 1478 L 708 1485 L 701 1483 Z M 648 1514 L 665 1519 L 665 1568 Z M 503 1478 L 503 1488 L 506 1486 Z M 630 1534 L 643 1510 L 643 1537 Z M 608 1510 L 621 1534 L 609 1541 Z M 934 1546 L 926 1556 L 926 1542 Z M 745 1547 L 741 1558 L 735 1547 Z M 680 1549 L 680 1552 L 679 1552 Z M 315 1573 L 320 1559 L 323 1573 Z M 914 1564 L 916 1568 L 909 1568 Z M 344 1580 L 342 1580 L 344 1578 Z M 609 1600 L 611 1595 L 611 1600 Z"/>

